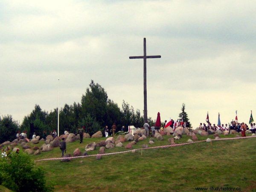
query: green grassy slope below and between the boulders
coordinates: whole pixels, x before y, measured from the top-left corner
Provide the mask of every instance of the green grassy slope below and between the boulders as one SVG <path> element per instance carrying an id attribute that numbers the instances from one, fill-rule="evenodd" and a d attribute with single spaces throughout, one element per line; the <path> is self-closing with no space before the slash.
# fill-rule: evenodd
<path id="1" fill-rule="evenodd" d="M 169 136 L 171 137 L 171 136 Z M 213 138 L 212 135 L 208 136 Z M 208 137 L 198 136 L 199 140 Z M 221 137 L 234 137 L 227 135 Z M 156 139 L 153 145 L 169 144 L 168 136 L 164 140 Z M 185 143 L 183 136 L 176 143 Z M 77 147 L 84 151 L 84 146 L 105 138 L 85 139 L 67 143 L 67 153 L 72 154 Z M 141 148 L 149 138 L 136 145 Z M 125 142 L 124 145 L 126 145 Z M 42 143 L 37 144 L 41 146 Z M 242 191 L 256 189 L 256 138 L 219 140 L 210 143 L 192 143 L 185 146 L 166 149 L 146 149 L 143 155 L 125 153 L 71 160 L 61 163 L 59 160 L 36 162 L 46 172 L 47 181 L 55 183 L 55 191 L 195 191 L 195 187 L 241 187 Z M 106 149 L 106 153 L 128 149 Z M 95 151 L 88 155 L 97 154 Z M 32 155 L 35 160 L 60 157 L 57 148 L 41 155 Z"/>

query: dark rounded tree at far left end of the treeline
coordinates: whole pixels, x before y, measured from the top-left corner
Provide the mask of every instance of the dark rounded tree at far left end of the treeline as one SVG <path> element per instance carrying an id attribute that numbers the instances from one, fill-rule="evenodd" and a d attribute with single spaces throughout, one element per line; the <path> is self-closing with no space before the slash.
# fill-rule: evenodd
<path id="1" fill-rule="evenodd" d="M 19 124 L 11 115 L 0 117 L 0 143 L 15 140 L 18 129 Z"/>

